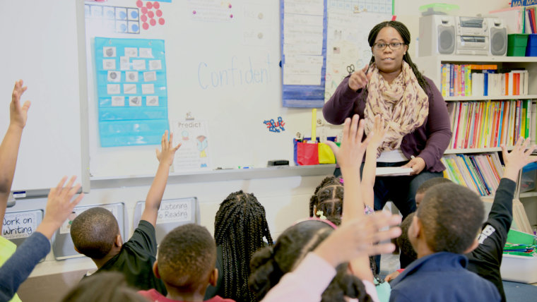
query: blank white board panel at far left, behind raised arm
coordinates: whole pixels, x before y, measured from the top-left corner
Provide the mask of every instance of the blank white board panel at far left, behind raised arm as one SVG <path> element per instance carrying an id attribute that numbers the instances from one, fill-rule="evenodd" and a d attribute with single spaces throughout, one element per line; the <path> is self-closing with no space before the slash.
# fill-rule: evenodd
<path id="1" fill-rule="evenodd" d="M 78 68 L 77 2 L 73 0 L 2 1 L 0 133 L 9 124 L 13 84 L 23 79 L 21 101 L 32 105 L 23 131 L 12 191 L 56 186 L 64 175 L 82 173 L 81 95 L 85 77 Z M 81 7 L 82 8 L 82 7 Z M 83 11 L 79 10 L 82 14 Z M 83 42 L 83 39 L 81 40 Z M 83 87 L 81 87 L 82 83 Z M 87 127 L 86 127 L 87 128 Z M 85 191 L 88 182 L 83 183 Z"/>

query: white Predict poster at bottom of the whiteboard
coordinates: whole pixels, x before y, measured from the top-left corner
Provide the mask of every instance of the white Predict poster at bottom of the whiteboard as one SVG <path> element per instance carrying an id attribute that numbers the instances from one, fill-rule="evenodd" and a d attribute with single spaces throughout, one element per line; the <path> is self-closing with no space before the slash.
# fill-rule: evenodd
<path id="1" fill-rule="evenodd" d="M 207 121 L 170 121 L 174 144 L 181 143 L 175 152 L 175 172 L 211 170 L 211 142 Z"/>

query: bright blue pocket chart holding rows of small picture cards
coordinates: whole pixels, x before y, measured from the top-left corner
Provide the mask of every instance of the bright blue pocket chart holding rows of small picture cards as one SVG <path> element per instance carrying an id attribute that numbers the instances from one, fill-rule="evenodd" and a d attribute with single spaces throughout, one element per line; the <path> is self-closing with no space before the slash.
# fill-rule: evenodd
<path id="1" fill-rule="evenodd" d="M 168 130 L 164 40 L 95 37 L 101 147 L 158 145 Z"/>

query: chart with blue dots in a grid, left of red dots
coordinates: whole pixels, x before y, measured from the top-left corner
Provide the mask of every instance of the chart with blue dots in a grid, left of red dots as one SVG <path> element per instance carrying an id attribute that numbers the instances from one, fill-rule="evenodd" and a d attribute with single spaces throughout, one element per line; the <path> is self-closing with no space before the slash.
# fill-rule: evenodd
<path id="1" fill-rule="evenodd" d="M 85 4 L 84 11 L 87 28 L 123 34 L 140 33 L 138 7 Z"/>

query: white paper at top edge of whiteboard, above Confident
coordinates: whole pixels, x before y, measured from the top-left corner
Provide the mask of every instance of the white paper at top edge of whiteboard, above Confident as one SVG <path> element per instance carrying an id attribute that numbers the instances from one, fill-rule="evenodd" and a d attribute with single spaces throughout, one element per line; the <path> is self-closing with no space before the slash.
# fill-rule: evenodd
<path id="1" fill-rule="evenodd" d="M 208 22 L 232 22 L 232 1 L 221 0 L 188 0 L 190 16 L 193 20 Z"/>

